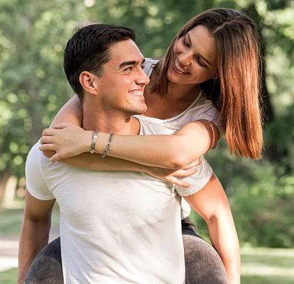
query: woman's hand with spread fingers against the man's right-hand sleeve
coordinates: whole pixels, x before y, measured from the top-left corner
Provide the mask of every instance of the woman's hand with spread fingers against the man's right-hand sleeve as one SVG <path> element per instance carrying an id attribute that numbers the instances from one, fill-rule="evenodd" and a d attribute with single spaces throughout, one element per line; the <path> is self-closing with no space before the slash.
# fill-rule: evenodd
<path id="1" fill-rule="evenodd" d="M 146 166 L 146 170 L 144 171 L 145 173 L 152 175 L 154 178 L 165 180 L 167 182 L 173 183 L 174 185 L 190 187 L 187 182 L 184 182 L 181 179 L 190 177 L 190 175 L 194 175 L 197 172 L 197 168 L 195 168 L 197 165 L 200 165 L 199 159 L 180 170 Z"/>

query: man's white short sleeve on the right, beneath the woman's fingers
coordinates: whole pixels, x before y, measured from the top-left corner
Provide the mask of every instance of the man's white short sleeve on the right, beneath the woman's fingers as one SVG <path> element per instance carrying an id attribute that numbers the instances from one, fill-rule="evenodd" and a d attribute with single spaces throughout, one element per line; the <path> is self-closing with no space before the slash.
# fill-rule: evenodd
<path id="1" fill-rule="evenodd" d="M 212 167 L 207 163 L 204 156 L 200 158 L 200 162 L 200 165 L 196 167 L 197 172 L 194 175 L 183 179 L 185 182 L 189 183 L 190 187 L 180 187 L 178 185 L 175 187 L 175 190 L 177 190 L 180 196 L 194 195 L 194 193 L 205 187 L 211 178 L 213 173 Z"/>

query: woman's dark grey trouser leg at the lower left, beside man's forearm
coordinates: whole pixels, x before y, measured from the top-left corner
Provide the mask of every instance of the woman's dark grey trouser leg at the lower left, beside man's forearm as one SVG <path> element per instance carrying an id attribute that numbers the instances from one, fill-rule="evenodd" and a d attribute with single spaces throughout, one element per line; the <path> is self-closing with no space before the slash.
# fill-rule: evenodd
<path id="1" fill-rule="evenodd" d="M 63 284 L 60 238 L 51 241 L 38 253 L 24 284 Z"/>

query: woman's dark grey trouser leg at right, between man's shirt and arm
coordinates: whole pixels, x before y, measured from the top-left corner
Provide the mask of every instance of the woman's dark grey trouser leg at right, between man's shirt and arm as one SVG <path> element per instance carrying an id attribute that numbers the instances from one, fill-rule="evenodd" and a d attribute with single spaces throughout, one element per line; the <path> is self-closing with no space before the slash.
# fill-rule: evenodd
<path id="1" fill-rule="evenodd" d="M 227 274 L 219 254 L 202 239 L 190 218 L 182 220 L 186 284 L 227 284 Z"/>

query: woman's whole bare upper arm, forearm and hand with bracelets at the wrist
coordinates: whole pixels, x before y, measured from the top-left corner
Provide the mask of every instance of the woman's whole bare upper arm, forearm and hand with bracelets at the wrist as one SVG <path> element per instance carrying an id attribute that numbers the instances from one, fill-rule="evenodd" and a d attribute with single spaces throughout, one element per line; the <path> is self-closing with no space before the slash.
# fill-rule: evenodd
<path id="1" fill-rule="evenodd" d="M 52 162 L 88 152 L 92 131 L 70 124 L 45 129 L 40 143 L 42 151 L 56 151 Z M 194 121 L 175 135 L 114 135 L 109 156 L 162 168 L 184 168 L 218 143 L 219 130 L 211 121 Z M 109 133 L 98 133 L 95 150 L 104 153 Z"/>

